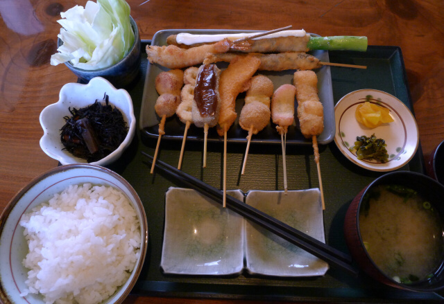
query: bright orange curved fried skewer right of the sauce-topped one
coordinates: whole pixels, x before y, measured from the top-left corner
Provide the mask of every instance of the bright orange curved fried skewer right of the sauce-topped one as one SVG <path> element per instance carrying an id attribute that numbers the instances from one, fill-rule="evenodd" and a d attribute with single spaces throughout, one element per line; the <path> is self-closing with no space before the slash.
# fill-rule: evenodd
<path id="1" fill-rule="evenodd" d="M 246 91 L 248 80 L 259 68 L 261 61 L 254 56 L 246 56 L 233 60 L 221 73 L 219 93 L 221 96 L 221 112 L 219 114 L 219 135 L 223 134 L 223 206 L 226 204 L 227 193 L 227 132 L 237 118 L 235 111 L 236 98 Z"/>

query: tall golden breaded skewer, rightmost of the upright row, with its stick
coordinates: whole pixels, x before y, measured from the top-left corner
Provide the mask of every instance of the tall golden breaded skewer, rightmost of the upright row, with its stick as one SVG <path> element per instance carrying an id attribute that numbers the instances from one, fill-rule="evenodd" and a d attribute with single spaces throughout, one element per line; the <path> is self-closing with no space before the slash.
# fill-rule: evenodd
<path id="1" fill-rule="evenodd" d="M 325 209 L 318 141 L 316 138 L 324 129 L 324 111 L 318 96 L 318 78 L 314 71 L 297 71 L 294 73 L 293 82 L 296 87 L 296 99 L 298 100 L 300 132 L 302 132 L 305 138 L 311 138 L 313 142 L 314 161 L 318 169 L 319 188 L 321 190 L 321 202 L 323 209 Z"/>

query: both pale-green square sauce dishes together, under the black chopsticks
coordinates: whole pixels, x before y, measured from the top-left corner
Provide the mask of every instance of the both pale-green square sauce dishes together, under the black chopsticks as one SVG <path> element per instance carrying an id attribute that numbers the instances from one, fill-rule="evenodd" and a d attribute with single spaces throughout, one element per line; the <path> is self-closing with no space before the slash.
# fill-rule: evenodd
<path id="1" fill-rule="evenodd" d="M 240 190 L 228 191 L 244 202 Z M 165 196 L 160 267 L 166 274 L 228 276 L 322 276 L 328 264 L 251 224 L 192 189 L 170 188 Z M 249 191 L 246 203 L 325 242 L 321 193 L 316 189 Z"/>

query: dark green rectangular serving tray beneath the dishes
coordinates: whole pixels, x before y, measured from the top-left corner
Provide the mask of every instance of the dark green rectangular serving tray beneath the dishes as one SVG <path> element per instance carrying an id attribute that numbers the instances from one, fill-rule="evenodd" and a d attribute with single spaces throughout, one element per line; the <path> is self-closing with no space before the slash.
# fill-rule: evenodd
<path id="1" fill-rule="evenodd" d="M 142 41 L 142 64 L 139 78 L 126 87 L 133 98 L 135 116 L 139 118 L 144 78 L 148 64 L 144 49 L 148 41 Z M 365 53 L 330 52 L 330 62 L 361 64 L 368 69 L 332 67 L 334 102 L 350 91 L 379 89 L 398 97 L 411 111 L 407 78 L 400 48 L 395 46 L 369 46 Z M 171 186 L 181 186 L 167 179 L 162 173 L 150 174 L 150 166 L 141 152 L 153 155 L 155 138 L 137 132 L 130 148 L 123 157 L 108 168 L 116 171 L 135 188 L 144 204 L 148 217 L 148 252 L 142 273 L 133 289 L 134 294 L 151 296 L 180 296 L 196 298 L 244 298 L 288 301 L 323 302 L 370 302 L 407 303 L 409 301 L 443 301 L 434 293 L 405 292 L 386 287 L 365 274 L 353 278 L 339 269 L 330 269 L 322 277 L 271 278 L 259 276 L 171 276 L 160 271 L 162 238 L 164 229 L 164 194 Z M 177 166 L 179 141 L 162 141 L 159 159 Z M 257 190 L 282 190 L 282 151 L 280 145 L 252 144 L 248 154 L 245 175 L 240 174 L 246 145 L 228 145 L 228 189 L 244 192 Z M 203 169 L 203 143 L 187 143 L 182 170 L 207 184 L 222 188 L 223 145 L 209 143 L 207 168 Z M 371 172 L 354 165 L 338 150 L 335 143 L 320 147 L 321 172 L 325 193 L 324 213 L 327 244 L 348 252 L 343 235 L 343 220 L 353 197 L 382 173 Z M 400 170 L 424 171 L 421 149 Z M 291 145 L 287 147 L 287 172 L 289 189 L 299 190 L 318 187 L 316 163 L 311 147 Z"/>

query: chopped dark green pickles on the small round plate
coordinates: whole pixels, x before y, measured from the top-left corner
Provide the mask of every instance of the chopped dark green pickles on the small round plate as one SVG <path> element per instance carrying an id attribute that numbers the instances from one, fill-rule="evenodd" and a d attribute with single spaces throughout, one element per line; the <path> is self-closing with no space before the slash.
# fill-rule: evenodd
<path id="1" fill-rule="evenodd" d="M 350 147 L 349 150 L 351 152 L 356 150 L 356 155 L 359 160 L 375 159 L 386 163 L 388 161 L 386 146 L 386 141 L 382 138 L 377 138 L 375 134 L 370 137 L 363 135 L 356 137 L 355 145 Z"/>

